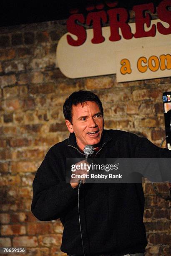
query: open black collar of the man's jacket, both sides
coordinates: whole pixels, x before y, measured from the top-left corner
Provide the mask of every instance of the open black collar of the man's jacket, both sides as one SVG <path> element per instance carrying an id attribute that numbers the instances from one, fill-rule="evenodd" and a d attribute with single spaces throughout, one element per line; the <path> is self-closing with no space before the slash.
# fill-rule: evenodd
<path id="1" fill-rule="evenodd" d="M 101 148 L 104 146 L 104 144 L 106 144 L 108 141 L 111 140 L 111 135 L 110 135 L 110 131 L 109 130 L 103 130 L 103 134 L 102 134 L 102 138 L 101 138 L 101 142 L 100 142 L 100 148 L 99 150 L 101 150 Z M 83 154 L 80 151 L 80 148 L 78 148 L 78 145 L 76 143 L 76 138 L 75 138 L 75 133 L 70 133 L 70 136 L 68 138 L 68 146 L 71 146 L 73 148 L 76 148 L 81 154 Z M 84 154 L 83 154 L 84 155 Z"/>

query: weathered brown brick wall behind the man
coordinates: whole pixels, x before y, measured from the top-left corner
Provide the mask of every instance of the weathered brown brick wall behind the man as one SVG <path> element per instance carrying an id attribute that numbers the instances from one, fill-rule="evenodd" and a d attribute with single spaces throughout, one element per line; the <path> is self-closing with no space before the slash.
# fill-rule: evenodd
<path id="1" fill-rule="evenodd" d="M 117 83 L 116 75 L 68 79 L 55 67 L 55 50 L 66 21 L 0 28 L 0 246 L 26 246 L 27 255 L 60 252 L 59 220 L 40 222 L 30 212 L 35 172 L 48 149 L 68 137 L 62 104 L 75 90 L 102 100 L 106 128 L 131 131 L 159 145 L 163 137 L 162 93 L 171 77 Z M 144 221 L 146 255 L 171 255 L 169 202 L 151 184 Z M 168 194 L 168 184 L 160 192 Z"/>

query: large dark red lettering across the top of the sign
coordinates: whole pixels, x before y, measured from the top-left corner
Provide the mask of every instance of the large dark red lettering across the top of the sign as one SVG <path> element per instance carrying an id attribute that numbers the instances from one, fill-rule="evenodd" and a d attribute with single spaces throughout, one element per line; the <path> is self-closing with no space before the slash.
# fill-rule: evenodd
<path id="1" fill-rule="evenodd" d="M 106 5 L 108 7 L 115 7 L 118 1 L 114 0 L 106 0 Z M 119 28 L 121 29 L 121 33 L 123 38 L 131 39 L 133 36 L 135 38 L 147 37 L 147 36 L 155 36 L 156 35 L 156 28 L 158 32 L 163 35 L 168 35 L 171 33 L 171 11 L 168 10 L 168 6 L 171 6 L 171 0 L 163 0 L 158 5 L 158 18 L 163 22 L 168 23 L 165 27 L 161 22 L 158 22 L 157 25 L 153 24 L 151 26 L 151 14 L 145 13 L 147 10 L 151 13 L 155 13 L 156 8 L 154 7 L 153 3 L 147 3 L 142 5 L 135 5 L 133 6 L 133 10 L 135 12 L 135 25 L 136 25 L 136 33 L 133 35 L 131 32 L 131 27 L 128 24 L 128 11 L 125 8 L 113 8 L 107 11 L 101 10 L 97 12 L 90 12 L 86 18 L 86 24 L 93 25 L 93 39 L 91 42 L 93 44 L 100 44 L 105 41 L 104 36 L 102 35 L 102 26 L 101 21 L 103 20 L 104 23 L 109 20 L 111 35 L 109 37 L 110 41 L 118 41 L 121 39 L 121 35 L 119 34 Z M 90 4 L 86 7 L 86 10 L 93 10 L 93 9 L 101 9 L 104 7 L 103 3 L 99 3 L 96 5 Z M 73 13 L 77 12 L 78 9 L 72 10 Z M 77 21 L 80 24 L 77 24 Z M 74 39 L 72 36 L 67 35 L 68 44 L 72 46 L 80 46 L 86 40 L 86 30 L 82 26 L 85 23 L 85 18 L 83 14 L 73 14 L 67 20 L 67 29 L 68 32 L 72 33 L 73 35 L 77 36 L 78 39 Z M 145 25 L 149 28 L 148 31 L 145 30 Z"/>

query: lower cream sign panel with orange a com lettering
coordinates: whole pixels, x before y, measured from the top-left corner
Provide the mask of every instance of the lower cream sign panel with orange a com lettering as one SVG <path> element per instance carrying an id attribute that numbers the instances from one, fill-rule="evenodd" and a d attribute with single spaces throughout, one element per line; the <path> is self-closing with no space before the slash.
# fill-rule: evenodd
<path id="1" fill-rule="evenodd" d="M 171 47 L 143 47 L 117 51 L 116 74 L 118 82 L 169 77 Z"/>

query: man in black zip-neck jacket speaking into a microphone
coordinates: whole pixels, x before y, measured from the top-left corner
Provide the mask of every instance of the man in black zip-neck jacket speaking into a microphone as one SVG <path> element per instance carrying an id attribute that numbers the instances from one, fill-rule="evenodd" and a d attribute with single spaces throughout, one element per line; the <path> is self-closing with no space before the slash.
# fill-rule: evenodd
<path id="1" fill-rule="evenodd" d="M 39 220 L 60 218 L 61 251 L 68 255 L 143 255 L 147 240 L 142 185 L 82 184 L 80 234 L 79 180 L 66 183 L 66 158 L 84 158 L 87 144 L 94 146 L 97 158 L 170 158 L 171 152 L 132 133 L 104 130 L 102 103 L 92 92 L 73 92 L 63 113 L 70 136 L 50 148 L 35 175 L 33 214 Z"/>

